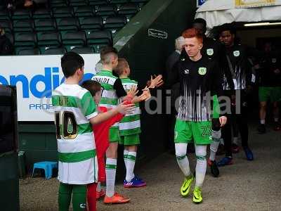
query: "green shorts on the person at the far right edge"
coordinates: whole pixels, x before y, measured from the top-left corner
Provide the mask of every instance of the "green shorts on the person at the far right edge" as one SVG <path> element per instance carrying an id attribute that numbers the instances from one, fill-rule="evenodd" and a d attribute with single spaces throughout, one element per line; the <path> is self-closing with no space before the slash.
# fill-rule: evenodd
<path id="1" fill-rule="evenodd" d="M 259 87 L 259 101 L 277 102 L 281 100 L 281 87 Z"/>

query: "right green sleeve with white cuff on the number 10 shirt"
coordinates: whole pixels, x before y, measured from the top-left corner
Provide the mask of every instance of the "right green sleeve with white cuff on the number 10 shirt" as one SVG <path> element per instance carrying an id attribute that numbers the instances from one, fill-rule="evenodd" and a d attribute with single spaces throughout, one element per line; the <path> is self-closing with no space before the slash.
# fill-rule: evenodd
<path id="1" fill-rule="evenodd" d="M 93 97 L 91 96 L 91 93 L 87 91 L 84 96 L 81 98 L 81 110 L 84 116 L 90 120 L 93 117 L 96 117 L 98 115 L 96 110 L 96 103 L 93 101 Z"/>

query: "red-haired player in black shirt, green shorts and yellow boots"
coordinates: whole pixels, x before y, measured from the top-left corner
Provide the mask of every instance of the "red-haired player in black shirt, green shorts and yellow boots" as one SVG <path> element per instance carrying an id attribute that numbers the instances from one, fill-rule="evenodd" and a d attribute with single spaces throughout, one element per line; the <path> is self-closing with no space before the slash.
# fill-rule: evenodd
<path id="1" fill-rule="evenodd" d="M 202 184 L 207 169 L 207 145 L 211 143 L 211 100 L 221 93 L 221 74 L 214 60 L 202 57 L 202 34 L 195 28 L 185 30 L 183 51 L 188 58 L 179 60 L 168 76 L 168 85 L 180 82 L 180 103 L 175 126 L 175 148 L 178 165 L 185 179 L 181 195 L 188 196 L 194 177 L 190 172 L 186 149 L 194 140 L 197 158 L 193 202 L 202 203 Z M 217 102 L 218 103 L 218 102 Z M 218 104 L 216 105 L 216 108 Z M 219 117 L 221 126 L 226 117 Z"/>

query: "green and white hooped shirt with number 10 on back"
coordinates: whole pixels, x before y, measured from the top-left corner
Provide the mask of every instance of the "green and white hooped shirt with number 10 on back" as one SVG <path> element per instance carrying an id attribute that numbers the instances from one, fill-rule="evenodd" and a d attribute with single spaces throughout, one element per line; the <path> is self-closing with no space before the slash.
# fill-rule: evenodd
<path id="1" fill-rule="evenodd" d="M 98 181 L 98 161 L 93 130 L 96 104 L 78 84 L 61 84 L 52 93 L 58 141 L 58 180 L 65 184 Z"/>

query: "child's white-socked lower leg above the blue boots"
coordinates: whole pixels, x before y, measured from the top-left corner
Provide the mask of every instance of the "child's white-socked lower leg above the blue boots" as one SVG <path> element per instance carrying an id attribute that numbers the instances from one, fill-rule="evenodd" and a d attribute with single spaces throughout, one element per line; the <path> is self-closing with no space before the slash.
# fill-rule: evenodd
<path id="1" fill-rule="evenodd" d="M 138 151 L 138 146 L 126 146 L 126 149 L 129 151 L 126 162 L 126 181 L 131 181 L 135 175 L 133 174 L 133 170 L 136 164 L 136 152 Z"/>

